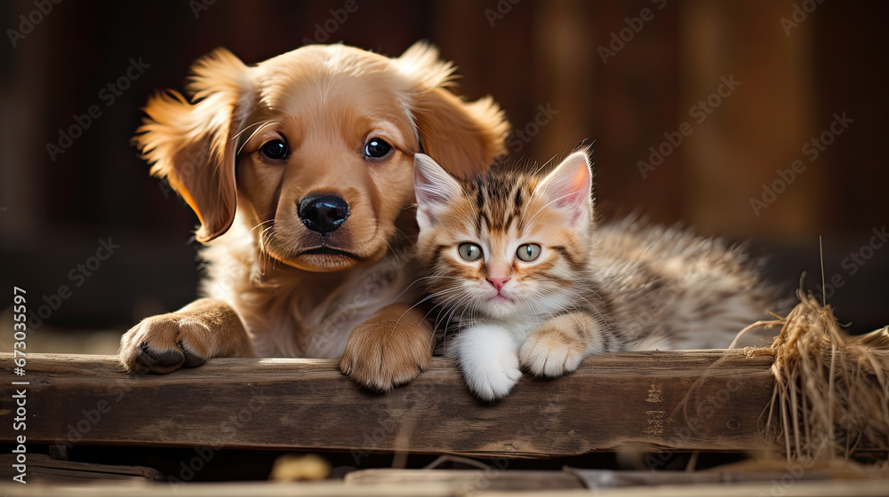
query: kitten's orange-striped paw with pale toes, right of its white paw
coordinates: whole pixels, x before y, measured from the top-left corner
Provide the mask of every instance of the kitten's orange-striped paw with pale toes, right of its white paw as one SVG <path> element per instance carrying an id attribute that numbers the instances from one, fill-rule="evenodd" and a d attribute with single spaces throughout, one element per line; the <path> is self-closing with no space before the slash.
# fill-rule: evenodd
<path id="1" fill-rule="evenodd" d="M 586 347 L 576 338 L 557 328 L 544 328 L 528 335 L 520 357 L 533 375 L 557 378 L 573 373 L 586 355 Z"/>

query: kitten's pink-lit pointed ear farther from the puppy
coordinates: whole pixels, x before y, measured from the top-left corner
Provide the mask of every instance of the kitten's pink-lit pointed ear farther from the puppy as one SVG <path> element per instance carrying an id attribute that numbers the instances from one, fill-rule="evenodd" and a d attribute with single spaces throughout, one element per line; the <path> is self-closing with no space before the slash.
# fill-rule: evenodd
<path id="1" fill-rule="evenodd" d="M 575 152 L 541 181 L 534 194 L 541 195 L 549 205 L 564 209 L 571 216 L 572 223 L 587 223 L 593 212 L 592 184 L 587 154 Z"/>

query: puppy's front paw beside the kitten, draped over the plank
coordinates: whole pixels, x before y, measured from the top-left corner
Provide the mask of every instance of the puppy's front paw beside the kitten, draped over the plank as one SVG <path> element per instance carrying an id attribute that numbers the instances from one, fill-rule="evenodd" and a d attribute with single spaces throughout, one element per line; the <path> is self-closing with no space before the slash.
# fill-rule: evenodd
<path id="1" fill-rule="evenodd" d="M 432 361 L 432 335 L 412 319 L 371 319 L 348 336 L 340 371 L 376 391 L 410 383 Z"/>

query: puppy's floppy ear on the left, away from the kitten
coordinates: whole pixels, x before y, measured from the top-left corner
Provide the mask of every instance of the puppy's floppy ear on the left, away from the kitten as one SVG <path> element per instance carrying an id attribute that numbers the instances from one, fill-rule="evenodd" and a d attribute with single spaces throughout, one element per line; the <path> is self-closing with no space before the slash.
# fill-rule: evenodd
<path id="1" fill-rule="evenodd" d="M 176 91 L 148 99 L 134 139 L 151 174 L 166 177 L 201 220 L 198 241 L 211 241 L 235 219 L 236 134 L 252 111 L 249 67 L 217 49 L 198 60 L 190 101 Z"/>

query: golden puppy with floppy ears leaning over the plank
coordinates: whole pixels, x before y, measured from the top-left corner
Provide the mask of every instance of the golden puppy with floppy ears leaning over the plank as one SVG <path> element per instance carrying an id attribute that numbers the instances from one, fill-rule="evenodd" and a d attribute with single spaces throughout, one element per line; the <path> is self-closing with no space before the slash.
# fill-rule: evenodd
<path id="1" fill-rule="evenodd" d="M 253 67 L 220 49 L 192 70 L 188 97 L 148 100 L 135 141 L 200 219 L 205 298 L 132 327 L 121 363 L 341 357 L 374 390 L 411 381 L 433 347 L 411 309 L 413 154 L 485 170 L 501 109 L 456 97 L 453 65 L 423 43 L 396 59 L 309 45 Z"/>

